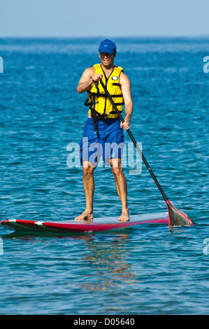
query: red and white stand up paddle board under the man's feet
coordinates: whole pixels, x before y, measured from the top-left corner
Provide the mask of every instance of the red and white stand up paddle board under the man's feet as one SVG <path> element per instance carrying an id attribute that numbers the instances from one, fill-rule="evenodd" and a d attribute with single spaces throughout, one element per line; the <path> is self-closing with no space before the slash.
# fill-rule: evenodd
<path id="1" fill-rule="evenodd" d="M 129 222 L 119 222 L 118 217 L 94 218 L 94 221 L 24 221 L 7 219 L 1 221 L 5 228 L 22 232 L 95 232 L 117 228 L 127 228 L 140 224 L 168 224 L 168 213 L 145 214 L 131 216 Z"/>

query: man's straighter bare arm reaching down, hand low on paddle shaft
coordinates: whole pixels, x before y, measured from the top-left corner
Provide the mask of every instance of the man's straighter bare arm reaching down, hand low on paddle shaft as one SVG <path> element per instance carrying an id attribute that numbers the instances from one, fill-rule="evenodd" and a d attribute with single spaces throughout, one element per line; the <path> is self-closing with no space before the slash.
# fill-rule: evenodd
<path id="1" fill-rule="evenodd" d="M 124 127 L 125 130 L 128 130 L 130 128 L 130 120 L 133 113 L 133 102 L 131 98 L 131 83 L 127 75 L 123 72 L 120 73 L 120 85 L 124 98 L 126 113 L 124 123 L 121 123 L 120 126 Z"/>

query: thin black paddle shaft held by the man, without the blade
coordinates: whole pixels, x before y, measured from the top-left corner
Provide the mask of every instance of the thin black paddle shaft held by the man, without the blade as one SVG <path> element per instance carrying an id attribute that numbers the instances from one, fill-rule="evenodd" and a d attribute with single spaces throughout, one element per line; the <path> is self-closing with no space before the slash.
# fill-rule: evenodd
<path id="1" fill-rule="evenodd" d="M 113 105 L 113 108 L 115 109 L 115 111 L 117 112 L 117 115 L 119 116 L 121 122 L 124 123 L 124 118 L 122 118 L 122 115 L 118 111 L 117 106 L 113 102 L 113 99 L 110 96 L 110 93 L 108 92 L 108 90 L 107 90 L 106 86 L 104 85 L 103 81 L 100 80 L 100 83 L 103 87 L 103 90 L 106 92 L 106 94 L 108 96 L 108 99 L 110 99 L 110 102 Z M 150 172 L 150 175 L 152 176 L 152 179 L 154 179 L 154 183 L 156 183 L 157 187 L 159 188 L 159 191 L 160 191 L 161 195 L 164 197 L 164 200 L 168 201 L 168 198 L 166 197 L 166 195 L 165 195 L 164 191 L 162 190 L 161 186 L 159 185 L 159 182 L 157 181 L 157 178 L 154 176 L 154 173 L 152 172 L 152 169 L 150 168 L 150 166 L 149 166 L 147 160 L 145 159 L 142 151 L 140 151 L 140 148 L 138 147 L 138 144 L 136 143 L 136 141 L 134 139 L 134 136 L 131 134 L 130 130 L 127 130 L 127 133 L 129 134 L 129 137 L 131 137 L 131 141 L 133 141 L 134 146 L 136 147 L 136 150 L 140 154 L 140 157 L 142 158 L 143 162 L 145 163 L 145 166 L 147 167 L 148 171 Z"/>

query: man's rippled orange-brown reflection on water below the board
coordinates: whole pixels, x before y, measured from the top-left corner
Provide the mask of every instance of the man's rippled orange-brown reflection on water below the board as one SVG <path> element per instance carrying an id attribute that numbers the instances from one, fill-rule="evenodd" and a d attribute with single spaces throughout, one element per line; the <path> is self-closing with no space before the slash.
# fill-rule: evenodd
<path id="1" fill-rule="evenodd" d="M 129 234 L 117 234 L 117 240 L 108 241 L 107 244 L 98 241 L 87 241 L 89 253 L 82 255 L 85 267 L 94 268 L 96 282 L 82 283 L 82 288 L 87 290 L 113 290 L 118 284 L 131 283 L 134 274 L 131 272 L 129 254 L 131 248 L 127 248 Z M 86 281 L 86 280 L 85 280 Z"/>

